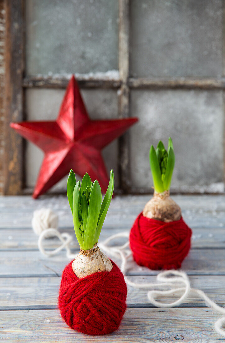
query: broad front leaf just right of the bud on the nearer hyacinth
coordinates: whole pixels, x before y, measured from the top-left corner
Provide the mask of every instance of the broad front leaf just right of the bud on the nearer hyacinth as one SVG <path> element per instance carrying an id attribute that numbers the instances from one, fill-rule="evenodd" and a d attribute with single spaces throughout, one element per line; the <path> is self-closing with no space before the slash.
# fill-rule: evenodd
<path id="1" fill-rule="evenodd" d="M 89 205 L 88 205 L 88 217 L 87 217 L 87 224 L 84 233 L 84 245 L 83 249 L 91 249 L 95 242 L 95 233 L 98 224 L 98 217 L 101 209 L 101 202 L 102 202 L 102 193 L 101 187 L 97 180 L 93 183 Z"/>

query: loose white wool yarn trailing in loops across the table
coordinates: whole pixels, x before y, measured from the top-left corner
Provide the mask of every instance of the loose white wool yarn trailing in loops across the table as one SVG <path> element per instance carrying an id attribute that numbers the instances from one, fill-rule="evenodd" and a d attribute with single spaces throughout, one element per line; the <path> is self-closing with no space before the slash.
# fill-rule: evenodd
<path id="1" fill-rule="evenodd" d="M 39 210 L 40 211 L 40 210 Z M 52 212 L 44 212 L 49 211 L 47 209 L 42 209 L 43 213 L 40 213 L 40 217 L 45 219 L 45 223 L 48 223 L 48 213 L 52 216 Z M 59 251 L 62 249 L 66 249 L 66 256 L 68 259 L 74 259 L 77 255 L 74 255 L 71 253 L 70 249 L 70 243 L 72 242 L 73 238 L 68 233 L 60 233 L 59 230 L 56 228 L 49 228 L 46 227 L 43 224 L 43 221 L 40 221 L 40 217 L 36 221 L 35 218 L 37 218 L 37 213 L 33 217 L 32 220 L 32 226 L 35 232 L 39 233 L 38 238 L 38 248 L 41 251 L 41 253 L 45 256 L 53 256 L 56 255 Z M 55 218 L 54 218 L 55 220 Z M 45 238 L 49 237 L 58 237 L 59 240 L 62 242 L 62 245 L 54 250 L 45 250 L 43 247 L 43 240 Z M 167 270 L 160 272 L 157 277 L 157 283 L 136 283 L 133 281 L 130 281 L 129 278 L 126 276 L 127 272 L 127 261 L 132 256 L 132 252 L 129 249 L 129 240 L 121 246 L 109 246 L 108 244 L 114 240 L 115 238 L 127 238 L 129 237 L 129 232 L 122 232 L 115 235 L 110 236 L 107 238 L 103 243 L 98 244 L 99 248 L 104 250 L 104 252 L 108 253 L 110 256 L 113 256 L 115 258 L 121 259 L 121 271 L 124 274 L 124 278 L 126 280 L 126 283 L 134 288 L 140 288 L 140 289 L 150 289 L 147 293 L 149 302 L 156 306 L 161 308 L 169 308 L 174 307 L 182 304 L 189 296 L 190 293 L 197 294 L 201 299 L 203 299 L 207 306 L 212 307 L 216 311 L 225 314 L 225 308 L 218 306 L 214 301 L 212 301 L 203 291 L 196 288 L 190 287 L 190 281 L 188 279 L 188 276 L 183 271 L 178 270 Z M 169 287 L 168 290 L 159 290 L 159 289 L 152 289 L 152 288 L 162 288 L 162 287 Z M 160 296 L 177 296 L 180 292 L 183 292 L 183 294 L 172 303 L 162 303 L 161 301 L 156 300 L 157 297 Z M 225 337 L 225 317 L 218 319 L 215 324 L 214 328 L 216 332 L 221 334 Z"/>

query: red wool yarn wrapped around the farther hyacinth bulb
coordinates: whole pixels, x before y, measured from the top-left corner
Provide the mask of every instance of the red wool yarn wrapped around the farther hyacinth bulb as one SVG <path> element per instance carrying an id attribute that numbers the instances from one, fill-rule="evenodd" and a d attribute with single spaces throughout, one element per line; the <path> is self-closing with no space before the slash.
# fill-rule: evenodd
<path id="1" fill-rule="evenodd" d="M 138 215 L 130 230 L 130 249 L 137 264 L 150 269 L 177 269 L 190 249 L 191 229 L 180 220 L 165 223 Z"/>

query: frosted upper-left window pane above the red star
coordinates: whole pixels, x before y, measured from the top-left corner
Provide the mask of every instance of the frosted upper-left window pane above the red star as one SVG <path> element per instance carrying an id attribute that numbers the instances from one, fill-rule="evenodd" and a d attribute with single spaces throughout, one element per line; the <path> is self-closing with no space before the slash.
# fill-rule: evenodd
<path id="1" fill-rule="evenodd" d="M 117 0 L 26 0 L 26 73 L 117 69 Z"/>

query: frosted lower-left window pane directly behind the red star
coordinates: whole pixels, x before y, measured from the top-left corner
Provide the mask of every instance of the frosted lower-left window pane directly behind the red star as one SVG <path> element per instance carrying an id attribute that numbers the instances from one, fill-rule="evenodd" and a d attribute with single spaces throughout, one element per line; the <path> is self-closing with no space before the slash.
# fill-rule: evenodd
<path id="1" fill-rule="evenodd" d="M 27 89 L 27 120 L 55 120 L 65 90 Z M 117 117 L 117 96 L 113 90 L 83 90 L 84 98 L 91 119 L 113 119 Z M 110 143 L 103 150 L 103 158 L 110 171 L 115 175 L 115 186 L 118 185 L 117 152 L 118 141 Z M 43 152 L 36 145 L 27 142 L 26 149 L 26 186 L 34 187 L 41 166 Z M 58 182 L 54 189 L 65 190 L 66 177 Z M 52 188 L 52 189 L 53 189 Z"/>

